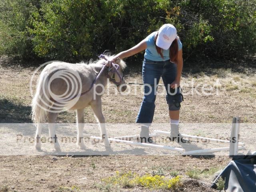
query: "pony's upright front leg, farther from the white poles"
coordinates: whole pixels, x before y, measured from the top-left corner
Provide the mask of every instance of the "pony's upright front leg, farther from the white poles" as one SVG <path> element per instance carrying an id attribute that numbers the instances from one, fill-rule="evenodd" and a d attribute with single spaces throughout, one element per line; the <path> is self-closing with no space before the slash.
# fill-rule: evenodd
<path id="1" fill-rule="evenodd" d="M 77 122 L 77 142 L 76 147 L 79 149 L 85 149 L 84 144 L 84 109 L 76 110 L 76 122 Z"/>

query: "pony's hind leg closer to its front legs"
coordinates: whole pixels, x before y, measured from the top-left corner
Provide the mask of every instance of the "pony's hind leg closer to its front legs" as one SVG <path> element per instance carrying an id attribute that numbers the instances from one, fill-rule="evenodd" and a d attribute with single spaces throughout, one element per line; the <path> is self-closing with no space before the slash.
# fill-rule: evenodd
<path id="1" fill-rule="evenodd" d="M 60 150 L 60 144 L 58 142 L 56 136 L 56 128 L 55 128 L 55 120 L 58 116 L 58 113 L 55 112 L 48 112 L 48 123 L 49 123 L 49 135 L 50 135 L 50 143 L 54 144 L 54 148 L 56 151 Z"/>

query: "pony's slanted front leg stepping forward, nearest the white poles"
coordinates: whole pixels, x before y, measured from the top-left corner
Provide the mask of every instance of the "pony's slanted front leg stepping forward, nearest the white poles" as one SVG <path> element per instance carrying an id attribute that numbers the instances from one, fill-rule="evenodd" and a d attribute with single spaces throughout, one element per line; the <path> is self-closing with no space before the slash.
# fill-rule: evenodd
<path id="1" fill-rule="evenodd" d="M 105 147 L 110 146 L 110 142 L 108 141 L 108 135 L 106 132 L 106 126 L 105 126 L 105 118 L 102 113 L 102 104 L 101 99 L 94 100 L 90 106 L 92 107 L 92 110 L 98 119 L 99 125 L 100 125 L 100 134 L 102 137 L 102 141 L 104 142 Z"/>

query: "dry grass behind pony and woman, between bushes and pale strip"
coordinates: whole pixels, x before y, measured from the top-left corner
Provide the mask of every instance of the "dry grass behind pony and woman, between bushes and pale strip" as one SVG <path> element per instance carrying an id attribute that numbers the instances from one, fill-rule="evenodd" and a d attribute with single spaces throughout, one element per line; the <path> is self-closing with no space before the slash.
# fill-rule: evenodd
<path id="1" fill-rule="evenodd" d="M 255 74 L 232 73 L 230 69 L 215 69 L 211 74 L 200 72 L 182 77 L 184 102 L 180 111 L 182 122 L 230 122 L 230 117 L 240 115 L 256 122 L 253 114 L 256 98 Z M 0 68 L 0 122 L 31 122 L 29 82 L 33 69 L 16 70 Z M 126 74 L 126 82 L 141 83 L 141 74 Z M 162 83 L 162 80 L 160 81 Z M 107 122 L 133 123 L 136 119 L 143 93 L 142 86 L 131 87 L 130 94 L 103 96 L 103 112 Z M 137 92 L 137 94 L 135 94 Z M 247 105 L 248 104 L 248 105 Z M 218 105 L 218 107 L 216 107 Z M 223 113 L 225 111 L 225 113 Z M 234 113 L 236 112 L 236 113 Z M 86 108 L 86 122 L 96 122 L 92 110 Z M 120 118 L 122 116 L 122 118 Z M 76 122 L 75 111 L 62 112 L 58 122 Z M 168 121 L 165 90 L 158 88 L 154 122 Z"/>

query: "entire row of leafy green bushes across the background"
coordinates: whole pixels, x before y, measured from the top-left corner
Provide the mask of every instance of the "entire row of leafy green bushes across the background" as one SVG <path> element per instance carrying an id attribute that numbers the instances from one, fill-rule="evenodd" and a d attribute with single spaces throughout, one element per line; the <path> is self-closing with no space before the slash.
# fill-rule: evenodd
<path id="1" fill-rule="evenodd" d="M 4 0 L 0 54 L 88 60 L 126 50 L 164 23 L 176 26 L 185 59 L 256 52 L 256 0 Z"/>

